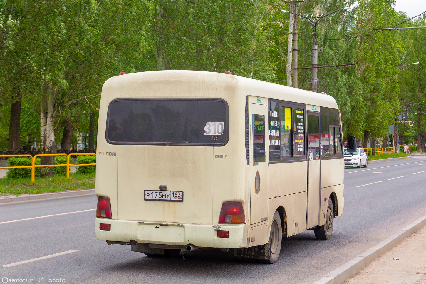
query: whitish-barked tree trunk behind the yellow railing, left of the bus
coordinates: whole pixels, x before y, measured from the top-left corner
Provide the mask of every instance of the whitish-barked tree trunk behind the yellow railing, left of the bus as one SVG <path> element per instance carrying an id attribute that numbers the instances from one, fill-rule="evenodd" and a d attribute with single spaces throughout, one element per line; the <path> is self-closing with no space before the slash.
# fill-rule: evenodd
<path id="1" fill-rule="evenodd" d="M 52 90 L 48 84 L 44 84 L 41 88 L 41 111 L 40 111 L 40 151 L 41 154 L 56 154 L 55 143 L 55 102 L 57 90 Z M 53 165 L 54 156 L 42 156 L 42 165 Z M 53 167 L 49 167 L 48 173 L 42 173 L 49 177 L 53 176 Z"/>

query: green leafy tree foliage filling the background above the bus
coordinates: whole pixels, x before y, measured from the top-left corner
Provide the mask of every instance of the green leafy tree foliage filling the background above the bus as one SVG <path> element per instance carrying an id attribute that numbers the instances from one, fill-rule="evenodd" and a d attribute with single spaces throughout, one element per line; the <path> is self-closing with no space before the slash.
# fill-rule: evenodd
<path id="1" fill-rule="evenodd" d="M 67 123 L 75 145 L 89 133 L 92 112 L 97 129 L 102 84 L 120 71 L 230 70 L 285 85 L 289 13 L 282 9 L 289 8 L 277 0 L 0 1 L 0 149 L 8 147 L 18 95 L 22 148 L 60 145 Z M 318 90 L 336 99 L 343 135 L 374 142 L 402 114 L 400 141 L 423 145 L 426 74 L 406 64 L 426 62 L 424 29 L 374 29 L 426 26 L 426 16 L 405 21 L 394 0 L 310 0 L 298 14 L 329 14 L 316 25 L 318 65 L 358 62 L 318 68 Z M 312 23 L 297 23 L 298 64 L 310 67 Z M 298 71 L 299 88 L 311 88 L 311 71 Z"/>

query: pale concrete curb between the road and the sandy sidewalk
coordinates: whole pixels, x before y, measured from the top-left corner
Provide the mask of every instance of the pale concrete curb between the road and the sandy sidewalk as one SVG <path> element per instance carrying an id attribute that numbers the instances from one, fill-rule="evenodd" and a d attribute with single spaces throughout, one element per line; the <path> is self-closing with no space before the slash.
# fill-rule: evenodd
<path id="1" fill-rule="evenodd" d="M 391 235 L 386 240 L 373 246 L 371 249 L 366 250 L 362 254 L 352 258 L 350 261 L 343 264 L 341 267 L 328 273 L 314 284 L 342 284 L 349 277 L 353 276 L 362 268 L 366 267 L 368 263 L 389 251 L 396 246 L 400 241 L 408 238 L 409 235 L 416 232 L 418 229 L 426 226 L 426 215 L 417 219 L 410 225 L 406 226 L 394 235 Z"/>

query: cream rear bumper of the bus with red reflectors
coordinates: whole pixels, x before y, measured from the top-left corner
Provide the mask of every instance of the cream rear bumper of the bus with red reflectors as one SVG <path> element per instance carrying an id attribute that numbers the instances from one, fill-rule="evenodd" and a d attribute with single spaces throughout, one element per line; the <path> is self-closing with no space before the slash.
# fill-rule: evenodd
<path id="1" fill-rule="evenodd" d="M 100 229 L 100 224 L 110 224 L 110 230 Z M 247 247 L 248 224 L 220 225 L 228 231 L 228 238 L 219 238 L 212 225 L 190 223 L 157 223 L 149 221 L 112 220 L 96 218 L 96 238 L 104 241 L 155 243 L 175 246 L 193 244 L 200 247 L 239 248 Z"/>

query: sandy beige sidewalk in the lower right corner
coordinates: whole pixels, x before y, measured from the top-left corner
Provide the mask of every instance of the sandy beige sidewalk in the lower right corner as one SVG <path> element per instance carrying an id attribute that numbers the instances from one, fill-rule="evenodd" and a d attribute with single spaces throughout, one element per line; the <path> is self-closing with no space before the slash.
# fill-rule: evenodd
<path id="1" fill-rule="evenodd" d="M 426 226 L 371 261 L 344 284 L 425 284 Z"/>

